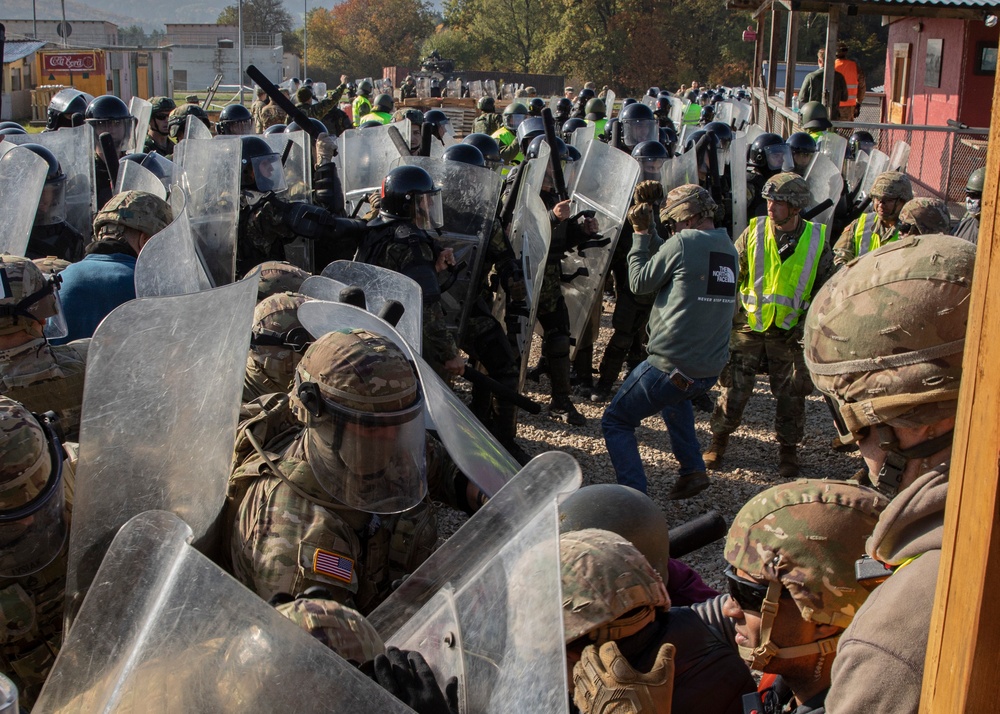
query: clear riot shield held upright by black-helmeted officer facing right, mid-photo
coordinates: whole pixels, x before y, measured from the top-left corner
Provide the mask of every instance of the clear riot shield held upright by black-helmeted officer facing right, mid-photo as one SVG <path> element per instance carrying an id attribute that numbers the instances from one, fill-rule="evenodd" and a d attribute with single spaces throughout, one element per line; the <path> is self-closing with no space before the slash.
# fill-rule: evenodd
<path id="1" fill-rule="evenodd" d="M 454 282 L 441 295 L 441 307 L 456 342 L 461 343 L 465 323 L 482 285 L 486 246 L 493 230 L 503 179 L 500 174 L 458 161 L 408 156 L 407 164 L 419 166 L 441 187 L 444 226 L 436 240 L 455 252 Z"/>

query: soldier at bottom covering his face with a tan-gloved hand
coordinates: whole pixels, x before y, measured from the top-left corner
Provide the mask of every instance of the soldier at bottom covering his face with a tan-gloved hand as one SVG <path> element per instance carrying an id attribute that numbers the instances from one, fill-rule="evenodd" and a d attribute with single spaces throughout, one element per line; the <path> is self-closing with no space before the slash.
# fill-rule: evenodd
<path id="1" fill-rule="evenodd" d="M 570 691 L 581 714 L 742 712 L 754 681 L 730 644 L 719 598 L 671 607 L 660 575 L 610 531 L 563 533 L 559 559 Z"/>

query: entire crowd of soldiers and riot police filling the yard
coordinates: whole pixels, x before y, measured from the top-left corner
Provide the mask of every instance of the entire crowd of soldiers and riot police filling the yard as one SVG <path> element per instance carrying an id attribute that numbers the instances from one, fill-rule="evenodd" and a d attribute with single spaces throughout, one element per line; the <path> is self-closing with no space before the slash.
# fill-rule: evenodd
<path id="1" fill-rule="evenodd" d="M 853 83 L 836 118 L 849 121 L 864 79 L 840 54 Z M 88 420 L 121 408 L 129 388 L 107 403 L 86 390 L 91 342 L 116 309 L 153 294 L 137 284 L 184 269 L 202 289 L 256 285 L 245 363 L 210 365 L 244 374 L 239 426 L 222 436 L 233 458 L 212 567 L 372 687 L 457 714 L 504 686 L 481 663 L 449 670 L 429 640 L 386 647 L 367 618 L 382 622 L 381 605 L 433 580 L 442 504 L 489 523 L 513 501 L 487 471 L 511 485 L 545 478 L 518 442 L 516 397 L 547 375 L 548 413 L 567 429 L 586 424 L 574 400 L 607 402 L 617 481 L 559 504 L 560 710 L 916 712 L 984 170 L 952 221 L 943 201 L 914 196 L 905 160 L 835 128 L 820 101 L 804 101 L 802 131 L 783 137 L 749 121 L 738 88 L 654 87 L 620 107 L 590 84 L 549 98 L 523 88 L 502 109 L 477 98 L 459 140 L 446 111 L 419 108 L 410 79 L 394 91 L 345 76 L 320 96 L 311 80 L 258 88 L 214 123 L 196 96 L 155 97 L 144 134 L 119 98 L 68 89 L 45 133 L 0 128 L 0 186 L 20 186 L 35 214 L 0 255 L 0 662 L 22 709 L 40 696 L 51 706 L 54 664 L 81 666 L 57 661 L 64 615 L 76 616 L 63 607 L 73 504 L 92 498 L 94 450 L 115 444 Z M 63 148 L 81 142 L 83 162 Z M 181 224 L 197 260 L 144 260 Z M 320 275 L 347 286 L 341 303 L 316 308 L 332 304 L 307 285 Z M 606 291 L 613 334 L 598 359 Z M 720 594 L 671 558 L 636 432 L 661 415 L 679 465 L 669 497 L 693 498 L 765 374 L 779 482 L 730 524 Z M 448 406 L 458 400 L 442 385 L 463 376 L 471 401 Z M 814 390 L 838 429 L 831 448 L 864 460 L 842 480 L 800 478 Z M 446 407 L 460 418 L 446 422 Z M 704 450 L 695 409 L 711 410 Z M 531 557 L 542 578 L 544 558 Z M 456 617 L 482 628 L 502 617 L 488 590 Z M 529 649 L 543 636 L 516 634 Z"/>

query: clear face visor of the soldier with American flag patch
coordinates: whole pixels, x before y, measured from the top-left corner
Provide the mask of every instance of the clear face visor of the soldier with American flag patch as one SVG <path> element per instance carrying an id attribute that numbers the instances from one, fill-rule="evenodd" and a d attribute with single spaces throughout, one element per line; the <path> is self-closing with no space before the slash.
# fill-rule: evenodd
<path id="1" fill-rule="evenodd" d="M 423 396 L 418 392 L 409 407 L 380 413 L 319 399 L 324 418 L 305 432 L 317 483 L 338 502 L 366 513 L 416 506 L 427 493 Z"/>

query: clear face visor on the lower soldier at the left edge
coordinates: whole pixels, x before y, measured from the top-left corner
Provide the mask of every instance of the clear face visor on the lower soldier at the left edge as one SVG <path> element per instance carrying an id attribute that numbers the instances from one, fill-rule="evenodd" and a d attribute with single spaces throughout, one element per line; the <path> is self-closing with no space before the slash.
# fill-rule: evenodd
<path id="1" fill-rule="evenodd" d="M 26 482 L 47 470 L 45 486 L 23 506 L 0 510 L 0 577 L 38 572 L 55 560 L 66 541 L 62 450 L 51 432 L 46 433 L 48 450 L 17 479 Z"/>

